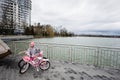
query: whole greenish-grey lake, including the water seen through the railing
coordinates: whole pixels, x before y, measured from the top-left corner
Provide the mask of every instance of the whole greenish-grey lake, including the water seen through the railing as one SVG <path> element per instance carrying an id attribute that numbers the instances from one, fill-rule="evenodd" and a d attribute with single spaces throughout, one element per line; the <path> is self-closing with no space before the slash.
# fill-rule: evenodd
<path id="1" fill-rule="evenodd" d="M 79 62 L 82 64 L 92 64 L 101 67 L 109 66 L 120 68 L 120 38 L 37 38 L 13 42 L 11 43 L 11 50 L 14 53 L 26 50 L 29 46 L 29 42 L 31 41 L 35 41 L 36 46 L 44 51 L 44 56 L 48 57 L 51 60 L 63 60 Z"/>

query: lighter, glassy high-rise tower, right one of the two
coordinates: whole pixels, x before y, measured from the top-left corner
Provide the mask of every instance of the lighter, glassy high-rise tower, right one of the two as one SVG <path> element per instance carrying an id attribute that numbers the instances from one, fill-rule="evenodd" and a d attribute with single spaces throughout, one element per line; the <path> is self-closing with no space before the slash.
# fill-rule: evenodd
<path id="1" fill-rule="evenodd" d="M 24 32 L 24 28 L 31 25 L 31 0 L 17 0 L 16 29 Z"/>

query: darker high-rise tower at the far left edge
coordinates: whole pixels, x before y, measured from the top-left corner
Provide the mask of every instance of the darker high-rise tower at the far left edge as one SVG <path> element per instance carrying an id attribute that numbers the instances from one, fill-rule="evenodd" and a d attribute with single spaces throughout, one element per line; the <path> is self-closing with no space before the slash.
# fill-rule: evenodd
<path id="1" fill-rule="evenodd" d="M 1 0 L 0 1 L 0 28 L 14 29 L 13 22 L 13 5 L 14 0 Z"/>

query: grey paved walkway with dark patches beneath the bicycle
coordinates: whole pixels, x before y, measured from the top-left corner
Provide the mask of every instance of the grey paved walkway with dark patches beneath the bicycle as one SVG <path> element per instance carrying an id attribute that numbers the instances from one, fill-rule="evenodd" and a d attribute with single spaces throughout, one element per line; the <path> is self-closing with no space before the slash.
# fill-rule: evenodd
<path id="1" fill-rule="evenodd" d="M 51 61 L 51 68 L 48 71 L 37 72 L 30 67 L 21 75 L 17 66 L 20 58 L 9 56 L 0 60 L 0 80 L 120 80 L 118 69 L 103 69 L 60 61 Z"/>

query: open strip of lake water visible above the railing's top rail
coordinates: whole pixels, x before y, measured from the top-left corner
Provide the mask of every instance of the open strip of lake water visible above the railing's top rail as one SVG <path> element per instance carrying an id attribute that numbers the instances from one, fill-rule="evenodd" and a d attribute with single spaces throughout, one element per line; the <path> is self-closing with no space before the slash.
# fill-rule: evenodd
<path id="1" fill-rule="evenodd" d="M 100 46 L 120 48 L 120 38 L 102 38 L 102 37 L 55 37 L 55 38 L 37 38 L 29 41 L 40 43 L 56 43 L 70 45 Z"/>

